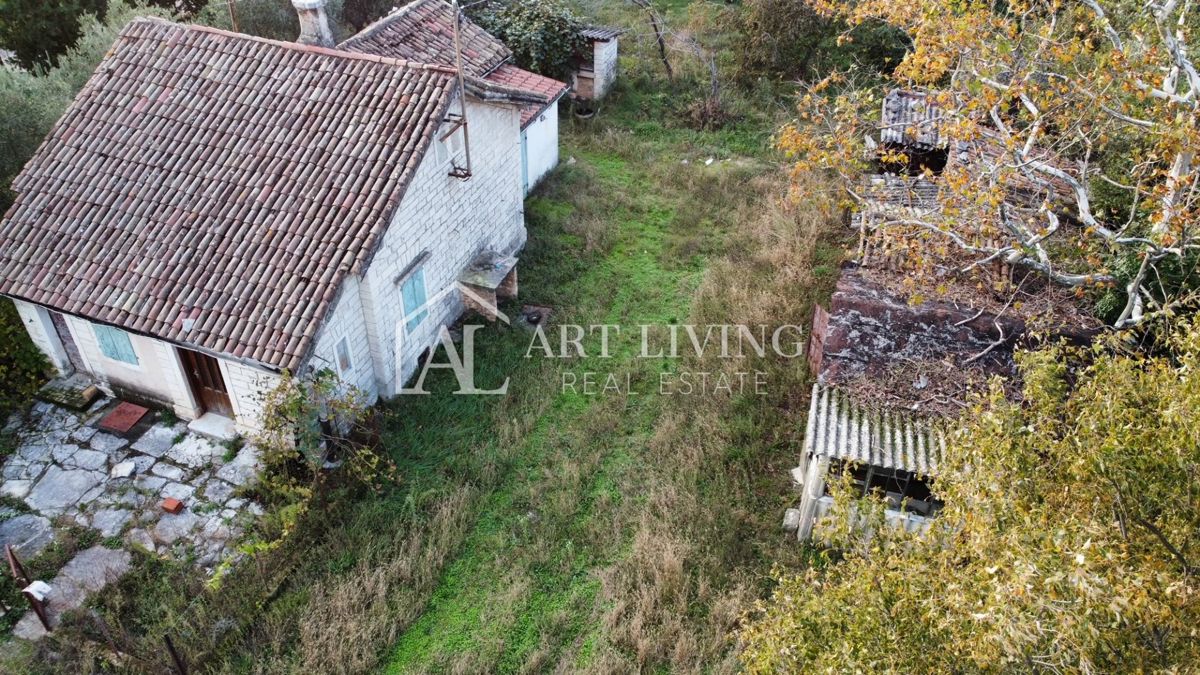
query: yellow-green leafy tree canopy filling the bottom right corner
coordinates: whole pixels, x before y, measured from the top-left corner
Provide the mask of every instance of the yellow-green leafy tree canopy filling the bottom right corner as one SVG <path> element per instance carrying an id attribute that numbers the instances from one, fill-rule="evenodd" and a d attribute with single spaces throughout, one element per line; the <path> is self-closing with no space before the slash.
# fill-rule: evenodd
<path id="1" fill-rule="evenodd" d="M 953 437 L 924 536 L 826 524 L 840 558 L 780 574 L 752 671 L 1171 670 L 1200 663 L 1200 327 L 1148 360 L 1114 341 L 1021 358 Z M 858 513 L 878 521 L 881 506 Z"/>

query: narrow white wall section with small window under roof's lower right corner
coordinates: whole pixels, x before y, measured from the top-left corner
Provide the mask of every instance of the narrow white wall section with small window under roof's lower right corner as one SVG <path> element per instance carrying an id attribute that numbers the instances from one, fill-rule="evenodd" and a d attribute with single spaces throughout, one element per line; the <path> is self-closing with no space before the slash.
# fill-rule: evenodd
<path id="1" fill-rule="evenodd" d="M 329 369 L 346 383 L 353 384 L 374 401 L 379 396 L 379 386 L 371 358 L 371 344 L 362 310 L 362 297 L 358 277 L 350 276 L 342 283 L 341 294 L 334 309 L 326 315 L 325 323 L 317 335 L 316 346 L 307 365 L 313 371 Z M 346 339 L 350 354 L 352 369 L 342 372 L 337 366 L 337 344 Z"/>

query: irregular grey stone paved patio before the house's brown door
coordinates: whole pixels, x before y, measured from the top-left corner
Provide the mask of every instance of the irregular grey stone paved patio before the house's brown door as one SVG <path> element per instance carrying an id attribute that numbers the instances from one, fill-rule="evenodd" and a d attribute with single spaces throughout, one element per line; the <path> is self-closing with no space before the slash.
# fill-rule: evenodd
<path id="1" fill-rule="evenodd" d="M 223 446 L 190 434 L 184 423 L 152 424 L 130 437 L 97 430 L 112 405 L 79 414 L 37 402 L 26 419 L 10 422 L 19 426 L 19 443 L 0 467 L 0 494 L 24 501 L 34 519 L 25 528 L 11 525 L 10 538 L 40 540 L 35 531 L 58 519 L 162 555 L 194 556 L 211 569 L 245 520 L 260 513 L 235 496 L 257 474 L 257 452 L 246 446 L 227 461 Z M 166 497 L 184 502 L 184 510 L 164 513 Z"/>

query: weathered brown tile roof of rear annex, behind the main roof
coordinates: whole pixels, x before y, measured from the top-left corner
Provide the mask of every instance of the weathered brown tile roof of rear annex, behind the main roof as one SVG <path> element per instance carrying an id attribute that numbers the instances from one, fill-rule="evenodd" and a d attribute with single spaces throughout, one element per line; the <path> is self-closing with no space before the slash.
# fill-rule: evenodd
<path id="1" fill-rule="evenodd" d="M 337 46 L 347 52 L 378 54 L 422 64 L 457 67 L 454 7 L 444 0 L 415 0 Z M 470 19 L 462 22 L 463 74 L 482 77 L 509 60 L 512 52 Z"/>

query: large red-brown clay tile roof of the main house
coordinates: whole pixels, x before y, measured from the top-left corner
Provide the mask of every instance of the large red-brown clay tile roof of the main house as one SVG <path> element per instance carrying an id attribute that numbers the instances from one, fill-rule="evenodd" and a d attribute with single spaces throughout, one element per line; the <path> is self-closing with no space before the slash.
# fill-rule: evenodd
<path id="1" fill-rule="evenodd" d="M 449 68 L 134 20 L 13 183 L 0 293 L 295 369 L 452 91 Z"/>

